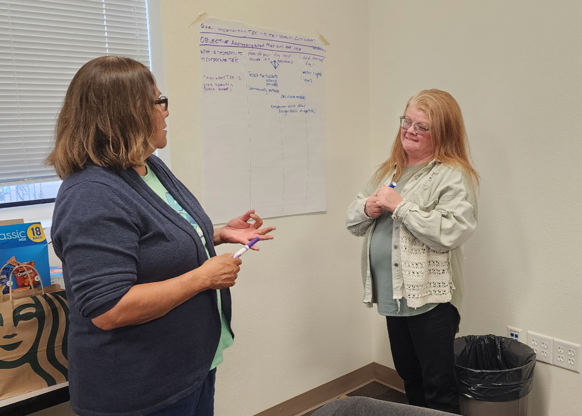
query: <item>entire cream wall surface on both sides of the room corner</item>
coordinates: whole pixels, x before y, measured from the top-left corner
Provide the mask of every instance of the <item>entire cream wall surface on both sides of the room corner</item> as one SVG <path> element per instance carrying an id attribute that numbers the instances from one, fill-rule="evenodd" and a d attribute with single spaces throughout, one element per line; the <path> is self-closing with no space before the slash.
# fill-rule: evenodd
<path id="1" fill-rule="evenodd" d="M 461 335 L 506 335 L 513 325 L 582 343 L 581 4 L 162 1 L 172 168 L 197 195 L 201 94 L 189 24 L 207 12 L 312 36 L 318 29 L 331 42 L 328 210 L 269 220 L 276 239 L 243 258 L 217 416 L 253 415 L 371 361 L 393 368 L 384 319 L 360 303 L 361 240 L 345 231 L 344 215 L 387 157 L 406 99 L 423 88 L 459 101 L 482 178 Z M 539 363 L 531 414 L 577 415 L 581 390 L 580 374 Z M 63 415 L 57 408 L 42 414 Z"/>

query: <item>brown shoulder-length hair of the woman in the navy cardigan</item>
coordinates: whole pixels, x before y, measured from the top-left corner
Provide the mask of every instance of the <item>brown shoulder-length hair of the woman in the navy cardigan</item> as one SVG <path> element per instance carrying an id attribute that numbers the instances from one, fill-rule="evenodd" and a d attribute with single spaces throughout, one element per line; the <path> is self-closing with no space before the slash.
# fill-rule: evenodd
<path id="1" fill-rule="evenodd" d="M 143 166 L 157 128 L 154 94 L 154 76 L 134 59 L 87 62 L 65 95 L 47 165 L 61 179 L 89 162 L 118 171 Z"/>

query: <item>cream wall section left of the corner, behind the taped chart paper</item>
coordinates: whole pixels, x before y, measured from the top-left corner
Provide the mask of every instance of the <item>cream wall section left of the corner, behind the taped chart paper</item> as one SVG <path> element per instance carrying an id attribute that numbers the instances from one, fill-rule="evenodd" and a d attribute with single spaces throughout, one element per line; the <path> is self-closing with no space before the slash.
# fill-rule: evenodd
<path id="1" fill-rule="evenodd" d="M 361 240 L 345 229 L 347 205 L 371 173 L 368 10 L 358 1 L 162 2 L 172 170 L 200 198 L 200 51 L 189 25 L 202 12 L 316 38 L 317 29 L 331 42 L 327 212 L 269 219 L 275 240 L 243 257 L 232 290 L 236 337 L 218 368 L 216 414 L 250 416 L 372 362 Z M 219 247 L 227 250 L 235 247 Z"/>

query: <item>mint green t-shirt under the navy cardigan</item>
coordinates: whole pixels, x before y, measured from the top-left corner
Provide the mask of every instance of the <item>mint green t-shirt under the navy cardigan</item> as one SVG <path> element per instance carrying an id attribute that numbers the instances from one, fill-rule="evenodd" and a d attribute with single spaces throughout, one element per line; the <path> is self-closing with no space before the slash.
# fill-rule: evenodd
<path id="1" fill-rule="evenodd" d="M 204 244 L 204 250 L 206 250 L 206 255 L 208 256 L 208 258 L 210 258 L 210 253 L 208 253 L 208 248 L 206 247 L 206 239 L 204 237 L 202 229 L 196 223 L 194 218 L 192 218 L 190 214 L 184 211 L 180 204 L 178 204 L 178 201 L 175 200 L 175 198 L 168 192 L 164 185 L 161 182 L 159 182 L 158 177 L 150 169 L 150 166 L 147 166 L 147 173 L 145 174 L 145 176 L 142 176 L 141 179 L 144 180 L 144 182 L 151 188 L 152 191 L 154 191 L 160 198 L 162 198 L 162 200 L 164 200 L 170 207 L 175 209 L 175 211 L 178 212 L 178 214 L 182 215 L 183 218 L 186 219 L 186 221 L 188 221 L 190 225 L 194 227 L 194 229 L 196 229 L 198 236 L 200 236 L 200 239 L 202 240 L 202 244 Z M 214 369 L 218 367 L 219 364 L 221 364 L 223 360 L 222 352 L 235 342 L 235 340 L 233 340 L 232 338 L 232 334 L 228 329 L 228 325 L 226 325 L 226 319 L 222 314 L 222 302 L 220 297 L 220 290 L 217 290 L 217 297 L 218 297 L 218 313 L 220 314 L 221 321 L 221 335 L 220 341 L 218 342 L 217 353 L 214 355 L 214 360 L 212 360 L 212 365 L 210 366 L 210 369 Z"/>

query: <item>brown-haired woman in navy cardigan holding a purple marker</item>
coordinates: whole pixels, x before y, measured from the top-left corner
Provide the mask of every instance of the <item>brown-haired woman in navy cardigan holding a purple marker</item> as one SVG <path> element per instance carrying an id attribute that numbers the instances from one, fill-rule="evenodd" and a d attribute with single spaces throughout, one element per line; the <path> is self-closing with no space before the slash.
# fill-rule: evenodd
<path id="1" fill-rule="evenodd" d="M 56 123 L 47 162 L 63 183 L 51 232 L 81 416 L 212 415 L 241 264 L 214 246 L 272 239 L 275 229 L 261 229 L 253 209 L 212 226 L 153 155 L 166 145 L 168 114 L 147 67 L 102 56 L 73 77 Z"/>

